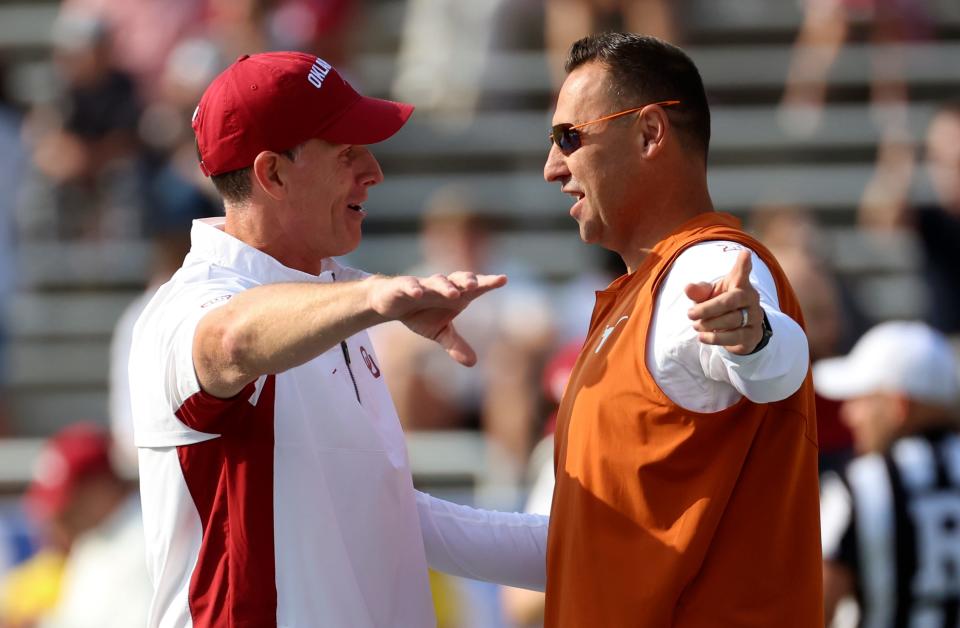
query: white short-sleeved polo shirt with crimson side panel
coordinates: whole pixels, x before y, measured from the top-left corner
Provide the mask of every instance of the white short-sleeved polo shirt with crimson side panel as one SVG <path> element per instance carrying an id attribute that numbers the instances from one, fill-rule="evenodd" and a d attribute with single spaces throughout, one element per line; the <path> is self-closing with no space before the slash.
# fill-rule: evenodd
<path id="1" fill-rule="evenodd" d="M 406 446 L 369 336 L 227 400 L 193 368 L 197 323 L 234 294 L 365 275 L 287 268 L 222 224 L 194 223 L 183 267 L 134 330 L 148 626 L 435 625 Z"/>

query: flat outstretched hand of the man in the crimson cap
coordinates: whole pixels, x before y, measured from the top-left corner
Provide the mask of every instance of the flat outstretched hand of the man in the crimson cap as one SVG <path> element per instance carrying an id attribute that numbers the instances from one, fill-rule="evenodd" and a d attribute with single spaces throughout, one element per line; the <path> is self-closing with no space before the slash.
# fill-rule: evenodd
<path id="1" fill-rule="evenodd" d="M 453 319 L 482 294 L 507 283 L 506 275 L 460 271 L 430 277 L 370 277 L 370 308 L 385 320 L 440 344 L 454 360 L 473 366 L 477 354 L 453 326 Z"/>

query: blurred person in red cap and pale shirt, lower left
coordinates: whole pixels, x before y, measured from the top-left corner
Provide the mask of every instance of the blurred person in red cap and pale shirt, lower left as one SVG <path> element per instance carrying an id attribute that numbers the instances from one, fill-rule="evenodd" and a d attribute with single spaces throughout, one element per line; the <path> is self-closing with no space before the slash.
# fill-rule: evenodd
<path id="1" fill-rule="evenodd" d="M 152 588 L 139 497 L 114 471 L 110 439 L 76 423 L 46 444 L 26 494 L 28 512 L 69 547 L 59 599 L 41 628 L 146 623 Z"/>

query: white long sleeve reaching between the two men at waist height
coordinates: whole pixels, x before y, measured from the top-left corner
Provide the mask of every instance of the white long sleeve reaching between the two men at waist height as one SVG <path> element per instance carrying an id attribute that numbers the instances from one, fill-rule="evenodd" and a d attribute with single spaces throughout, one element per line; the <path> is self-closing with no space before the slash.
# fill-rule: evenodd
<path id="1" fill-rule="evenodd" d="M 546 588 L 548 517 L 480 510 L 420 491 L 416 498 L 431 568 L 522 589 Z"/>

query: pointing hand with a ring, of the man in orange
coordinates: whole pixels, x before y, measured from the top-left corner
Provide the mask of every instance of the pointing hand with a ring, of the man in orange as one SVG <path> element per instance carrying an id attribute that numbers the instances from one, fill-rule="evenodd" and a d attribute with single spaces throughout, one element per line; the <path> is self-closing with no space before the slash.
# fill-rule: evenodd
<path id="1" fill-rule="evenodd" d="M 763 337 L 760 294 L 750 284 L 750 251 L 741 251 L 726 277 L 716 283 L 691 283 L 684 288 L 694 305 L 687 312 L 700 342 L 720 345 L 730 353 L 747 355 Z M 741 326 L 746 308 L 747 324 Z"/>

